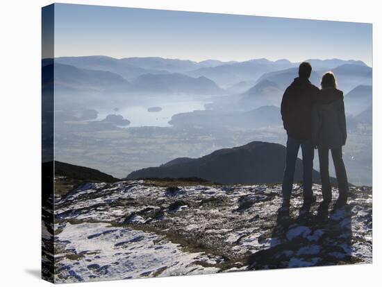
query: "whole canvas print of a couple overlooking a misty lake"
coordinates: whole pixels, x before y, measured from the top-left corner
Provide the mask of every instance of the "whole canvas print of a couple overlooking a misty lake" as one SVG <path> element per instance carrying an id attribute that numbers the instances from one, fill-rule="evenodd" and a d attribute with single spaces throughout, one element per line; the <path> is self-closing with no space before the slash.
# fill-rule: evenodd
<path id="1" fill-rule="evenodd" d="M 42 8 L 44 279 L 371 262 L 372 24 Z"/>

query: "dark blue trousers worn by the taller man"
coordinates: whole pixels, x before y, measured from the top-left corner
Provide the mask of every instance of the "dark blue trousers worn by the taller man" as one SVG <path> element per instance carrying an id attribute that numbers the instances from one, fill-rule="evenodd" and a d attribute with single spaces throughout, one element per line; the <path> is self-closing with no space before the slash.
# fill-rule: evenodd
<path id="1" fill-rule="evenodd" d="M 286 163 L 283 178 L 283 200 L 289 201 L 292 193 L 292 185 L 294 180 L 294 170 L 296 168 L 297 155 L 301 146 L 303 180 L 304 180 L 304 198 L 311 198 L 312 192 L 312 173 L 313 173 L 313 157 L 315 155 L 312 143 L 308 141 L 299 141 L 288 137 Z"/>

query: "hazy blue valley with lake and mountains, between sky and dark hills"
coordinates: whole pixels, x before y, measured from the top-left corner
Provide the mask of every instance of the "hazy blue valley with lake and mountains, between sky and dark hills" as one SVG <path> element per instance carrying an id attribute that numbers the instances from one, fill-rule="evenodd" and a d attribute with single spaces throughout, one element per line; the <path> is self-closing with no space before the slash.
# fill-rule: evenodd
<path id="1" fill-rule="evenodd" d="M 372 68 L 354 60 L 309 61 L 313 84 L 319 86 L 322 73 L 333 71 L 345 95 L 349 182 L 372 185 Z M 55 158 L 124 178 L 141 168 L 251 141 L 285 145 L 280 104 L 298 64 L 106 56 L 55 58 L 53 64 L 45 59 L 43 73 L 54 70 Z"/>

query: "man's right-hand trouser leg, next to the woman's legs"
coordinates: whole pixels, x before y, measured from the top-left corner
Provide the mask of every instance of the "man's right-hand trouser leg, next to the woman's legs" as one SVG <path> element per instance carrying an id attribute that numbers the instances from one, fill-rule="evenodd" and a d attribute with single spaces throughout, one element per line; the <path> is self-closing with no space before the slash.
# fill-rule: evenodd
<path id="1" fill-rule="evenodd" d="M 315 150 L 310 141 L 301 143 L 302 150 L 302 164 L 303 180 L 304 180 L 304 199 L 313 199 L 312 191 L 312 173 L 313 173 L 313 158 L 315 157 Z"/>

